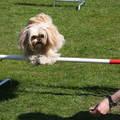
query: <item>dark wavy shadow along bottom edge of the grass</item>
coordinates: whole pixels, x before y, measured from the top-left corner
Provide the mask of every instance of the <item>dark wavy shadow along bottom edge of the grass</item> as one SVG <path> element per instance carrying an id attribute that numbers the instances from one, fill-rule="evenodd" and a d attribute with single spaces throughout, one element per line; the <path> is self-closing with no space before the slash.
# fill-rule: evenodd
<path id="1" fill-rule="evenodd" d="M 100 117 L 94 117 L 89 112 L 80 111 L 72 117 L 63 118 L 57 115 L 47 115 L 44 113 L 26 113 L 18 116 L 19 120 L 120 120 L 117 114 L 107 114 Z"/>

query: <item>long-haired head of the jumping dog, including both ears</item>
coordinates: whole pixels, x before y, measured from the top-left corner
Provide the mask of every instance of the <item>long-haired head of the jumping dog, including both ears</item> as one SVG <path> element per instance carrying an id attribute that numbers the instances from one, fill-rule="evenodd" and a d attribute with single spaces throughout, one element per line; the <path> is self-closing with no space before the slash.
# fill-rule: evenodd
<path id="1" fill-rule="evenodd" d="M 42 22 L 25 27 L 19 35 L 18 43 L 23 51 L 34 52 L 51 48 L 57 52 L 64 43 L 64 37 L 56 26 Z"/>

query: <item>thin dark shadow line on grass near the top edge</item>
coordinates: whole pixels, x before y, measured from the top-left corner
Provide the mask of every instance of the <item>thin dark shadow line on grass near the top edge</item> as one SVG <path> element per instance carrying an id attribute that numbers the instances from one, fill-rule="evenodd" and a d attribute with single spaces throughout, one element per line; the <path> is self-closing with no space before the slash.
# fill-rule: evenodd
<path id="1" fill-rule="evenodd" d="M 53 7 L 53 5 L 46 4 L 32 4 L 32 3 L 14 3 L 14 5 L 23 5 L 23 6 L 41 6 L 41 7 Z M 64 7 L 75 7 L 73 5 L 63 5 Z M 55 5 L 55 7 L 63 7 L 61 5 Z"/>

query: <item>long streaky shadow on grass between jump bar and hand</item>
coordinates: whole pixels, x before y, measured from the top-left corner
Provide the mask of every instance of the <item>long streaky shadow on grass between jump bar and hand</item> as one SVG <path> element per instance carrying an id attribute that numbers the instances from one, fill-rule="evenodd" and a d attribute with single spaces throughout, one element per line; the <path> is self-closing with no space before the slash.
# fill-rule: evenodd
<path id="1" fill-rule="evenodd" d="M 108 96 L 111 95 L 113 93 L 115 93 L 116 91 L 118 91 L 118 88 L 112 88 L 112 87 L 108 87 L 108 86 L 84 86 L 84 87 L 64 87 L 64 86 L 52 86 L 52 85 L 36 85 L 36 86 L 40 86 L 43 88 L 52 88 L 55 90 L 56 89 L 64 89 L 64 92 L 49 92 L 49 91 L 45 91 L 45 92 L 34 92 L 34 91 L 23 91 L 26 93 L 38 93 L 38 94 L 52 94 L 52 95 L 78 95 L 78 96 L 82 96 L 82 95 L 93 95 L 93 96 L 98 96 L 98 97 L 104 97 L 104 96 Z M 70 89 L 73 90 L 73 93 L 67 93 L 65 90 Z"/>

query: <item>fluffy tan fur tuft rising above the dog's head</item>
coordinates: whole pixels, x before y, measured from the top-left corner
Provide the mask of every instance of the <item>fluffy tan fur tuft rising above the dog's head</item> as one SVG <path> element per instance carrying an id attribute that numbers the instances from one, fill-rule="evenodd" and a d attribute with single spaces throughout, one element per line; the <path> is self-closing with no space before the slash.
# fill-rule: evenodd
<path id="1" fill-rule="evenodd" d="M 46 15 L 44 13 L 38 14 L 36 17 L 30 18 L 31 24 L 37 23 L 40 24 L 41 22 L 51 23 L 52 24 L 52 18 L 49 15 Z"/>

